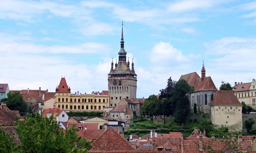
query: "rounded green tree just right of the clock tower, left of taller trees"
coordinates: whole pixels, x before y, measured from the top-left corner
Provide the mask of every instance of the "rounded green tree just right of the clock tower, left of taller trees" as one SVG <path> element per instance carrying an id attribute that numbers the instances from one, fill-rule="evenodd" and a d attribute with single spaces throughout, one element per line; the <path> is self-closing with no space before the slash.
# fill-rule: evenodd
<path id="1" fill-rule="evenodd" d="M 150 95 L 148 99 L 145 100 L 142 106 L 142 115 L 157 115 L 159 112 L 159 100 L 157 99 L 157 96 Z"/>

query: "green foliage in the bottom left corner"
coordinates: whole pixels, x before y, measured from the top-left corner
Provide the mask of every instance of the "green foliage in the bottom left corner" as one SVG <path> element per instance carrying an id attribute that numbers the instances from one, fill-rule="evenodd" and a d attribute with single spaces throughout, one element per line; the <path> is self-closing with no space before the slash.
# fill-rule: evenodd
<path id="1" fill-rule="evenodd" d="M 0 127 L 0 153 L 18 153 L 13 136 Z"/>

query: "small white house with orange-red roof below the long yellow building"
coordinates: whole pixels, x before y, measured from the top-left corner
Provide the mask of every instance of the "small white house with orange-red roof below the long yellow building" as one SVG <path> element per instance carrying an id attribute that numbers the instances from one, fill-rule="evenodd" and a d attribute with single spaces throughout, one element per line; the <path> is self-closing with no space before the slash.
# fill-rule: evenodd
<path id="1" fill-rule="evenodd" d="M 59 108 L 49 108 L 47 110 L 44 110 L 43 117 L 49 118 L 50 116 L 53 116 L 53 120 L 56 120 L 58 122 L 68 121 L 67 113 L 64 110 L 60 110 Z"/>

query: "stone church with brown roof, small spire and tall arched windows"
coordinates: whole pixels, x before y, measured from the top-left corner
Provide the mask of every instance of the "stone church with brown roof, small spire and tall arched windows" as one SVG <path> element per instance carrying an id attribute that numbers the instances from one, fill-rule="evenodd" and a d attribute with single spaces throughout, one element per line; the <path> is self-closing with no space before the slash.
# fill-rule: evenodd
<path id="1" fill-rule="evenodd" d="M 217 88 L 214 85 L 211 77 L 206 77 L 206 70 L 203 67 L 201 69 L 201 77 L 196 72 L 181 75 L 180 79 L 186 80 L 186 82 L 193 86 L 195 91 L 189 94 L 190 111 L 193 112 L 194 104 L 197 105 L 198 112 L 211 113 L 210 105 L 216 94 Z"/>

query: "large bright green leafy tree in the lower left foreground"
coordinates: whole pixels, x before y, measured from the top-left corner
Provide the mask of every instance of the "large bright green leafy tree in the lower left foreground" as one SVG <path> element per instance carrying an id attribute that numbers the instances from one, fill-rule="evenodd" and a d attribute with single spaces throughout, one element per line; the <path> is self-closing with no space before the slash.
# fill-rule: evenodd
<path id="1" fill-rule="evenodd" d="M 43 118 L 37 113 L 15 124 L 21 153 L 86 153 L 92 147 L 76 133 L 78 129 L 64 131 L 52 116 Z"/>

